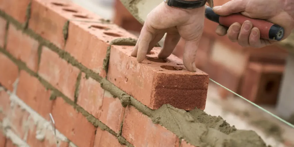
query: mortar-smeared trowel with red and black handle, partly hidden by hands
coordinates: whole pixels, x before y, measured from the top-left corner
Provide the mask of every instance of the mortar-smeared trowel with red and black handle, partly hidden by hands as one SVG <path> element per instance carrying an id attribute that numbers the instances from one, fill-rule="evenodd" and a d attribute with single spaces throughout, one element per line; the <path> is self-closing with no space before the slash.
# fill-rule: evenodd
<path id="1" fill-rule="evenodd" d="M 155 7 L 157 7 L 163 0 L 120 0 L 122 4 L 128 9 L 128 11 L 141 23 L 144 24 L 147 15 Z M 164 0 L 166 3 L 168 0 Z M 257 27 L 260 30 L 260 38 L 280 41 L 284 36 L 284 29 L 277 25 L 261 19 L 252 19 L 242 14 L 231 14 L 229 16 L 219 16 L 212 10 L 213 0 L 207 0 L 209 6 L 205 5 L 205 17 L 211 21 L 214 21 L 220 25 L 229 27 L 231 24 L 238 22 L 243 24 L 244 21 L 249 20 L 253 23 L 253 27 Z M 163 46 L 163 39 L 159 41 L 159 44 Z"/>

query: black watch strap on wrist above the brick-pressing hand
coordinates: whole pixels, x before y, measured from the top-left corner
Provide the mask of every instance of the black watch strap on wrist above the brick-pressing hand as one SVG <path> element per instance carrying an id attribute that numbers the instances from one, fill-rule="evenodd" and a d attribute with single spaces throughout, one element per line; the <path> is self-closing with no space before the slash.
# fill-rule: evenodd
<path id="1" fill-rule="evenodd" d="M 173 6 L 182 9 L 194 9 L 202 7 L 206 4 L 207 0 L 198 1 L 184 1 L 184 0 L 164 0 L 168 6 Z"/>

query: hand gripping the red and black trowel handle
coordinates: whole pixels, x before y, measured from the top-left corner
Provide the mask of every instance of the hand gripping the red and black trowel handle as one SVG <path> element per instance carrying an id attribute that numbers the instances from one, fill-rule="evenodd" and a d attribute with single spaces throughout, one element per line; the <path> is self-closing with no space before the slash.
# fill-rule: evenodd
<path id="1" fill-rule="evenodd" d="M 292 4 L 285 4 L 285 1 Z M 290 1 L 292 0 L 231 0 L 222 6 L 215 6 L 213 11 L 221 16 L 241 13 L 250 18 L 264 19 L 278 24 L 285 29 L 283 38 L 285 39 L 290 35 L 294 24 L 294 3 Z M 277 42 L 260 39 L 259 29 L 253 27 L 250 21 L 245 21 L 243 24 L 234 23 L 229 28 L 219 25 L 216 34 L 220 36 L 227 34 L 231 41 L 238 42 L 244 47 L 260 48 Z"/>

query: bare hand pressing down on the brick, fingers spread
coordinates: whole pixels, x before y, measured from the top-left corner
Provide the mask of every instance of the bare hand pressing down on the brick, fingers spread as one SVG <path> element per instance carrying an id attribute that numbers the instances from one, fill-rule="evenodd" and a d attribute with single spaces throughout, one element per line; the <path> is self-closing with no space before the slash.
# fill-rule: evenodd
<path id="1" fill-rule="evenodd" d="M 196 71 L 195 54 L 203 32 L 204 6 L 196 9 L 180 9 L 164 2 L 159 4 L 147 16 L 132 56 L 141 62 L 146 54 L 162 39 L 166 38 L 158 58 L 170 56 L 180 37 L 185 41 L 183 63 L 188 71 Z"/>

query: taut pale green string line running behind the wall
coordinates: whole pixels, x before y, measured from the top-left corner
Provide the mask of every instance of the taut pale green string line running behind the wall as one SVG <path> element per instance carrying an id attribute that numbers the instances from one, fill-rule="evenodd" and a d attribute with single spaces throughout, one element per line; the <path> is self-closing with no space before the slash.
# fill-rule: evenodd
<path id="1" fill-rule="evenodd" d="M 223 86 L 223 85 L 221 85 L 220 83 L 214 81 L 213 79 L 209 78 L 209 80 L 212 81 L 213 83 L 216 83 L 217 85 L 219 85 L 219 86 L 225 88 L 226 90 L 230 91 L 231 93 L 235 94 L 236 96 L 239 96 L 240 98 L 244 99 L 244 100 L 247 101 L 248 103 L 251 103 L 253 106 L 255 106 L 255 107 L 261 109 L 262 111 L 264 111 L 264 112 L 270 114 L 271 116 L 277 118 L 278 120 L 280 120 L 280 121 L 282 121 L 283 123 L 289 125 L 290 127 L 294 128 L 294 125 L 293 125 L 293 124 L 289 123 L 288 121 L 285 121 L 284 119 L 280 118 L 279 116 L 276 116 L 275 114 L 271 113 L 270 111 L 266 110 L 265 108 L 262 108 L 262 107 L 258 106 L 257 104 L 255 104 L 255 103 L 249 101 L 248 99 L 244 98 L 243 96 L 240 96 L 239 94 L 235 93 L 234 91 L 231 91 L 229 88 L 226 88 L 225 86 Z"/>

